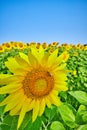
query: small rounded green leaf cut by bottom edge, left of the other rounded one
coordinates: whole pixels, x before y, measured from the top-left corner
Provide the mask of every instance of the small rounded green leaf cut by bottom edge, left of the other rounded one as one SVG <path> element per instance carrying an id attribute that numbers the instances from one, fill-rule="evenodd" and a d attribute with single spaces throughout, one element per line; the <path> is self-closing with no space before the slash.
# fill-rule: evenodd
<path id="1" fill-rule="evenodd" d="M 51 124 L 50 129 L 51 129 L 51 130 L 65 130 L 63 124 L 60 123 L 59 121 L 54 121 L 54 122 Z"/>

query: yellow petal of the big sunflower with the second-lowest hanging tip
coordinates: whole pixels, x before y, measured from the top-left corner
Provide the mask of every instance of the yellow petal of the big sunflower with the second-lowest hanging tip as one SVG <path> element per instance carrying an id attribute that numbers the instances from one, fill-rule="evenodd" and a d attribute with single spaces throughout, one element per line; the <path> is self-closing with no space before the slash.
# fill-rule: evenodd
<path id="1" fill-rule="evenodd" d="M 37 99 L 33 107 L 32 122 L 34 122 L 39 114 L 40 101 Z"/>

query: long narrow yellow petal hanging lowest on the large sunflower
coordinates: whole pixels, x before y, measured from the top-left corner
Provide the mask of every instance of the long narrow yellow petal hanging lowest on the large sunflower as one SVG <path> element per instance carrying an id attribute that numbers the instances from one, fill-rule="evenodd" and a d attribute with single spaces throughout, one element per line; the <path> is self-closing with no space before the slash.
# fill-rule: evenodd
<path id="1" fill-rule="evenodd" d="M 17 129 L 19 129 L 23 119 L 24 119 L 24 116 L 27 112 L 27 99 L 25 99 L 23 105 L 22 105 L 22 109 L 20 111 L 20 115 L 19 115 L 19 119 L 18 119 L 18 126 L 17 126 Z"/>

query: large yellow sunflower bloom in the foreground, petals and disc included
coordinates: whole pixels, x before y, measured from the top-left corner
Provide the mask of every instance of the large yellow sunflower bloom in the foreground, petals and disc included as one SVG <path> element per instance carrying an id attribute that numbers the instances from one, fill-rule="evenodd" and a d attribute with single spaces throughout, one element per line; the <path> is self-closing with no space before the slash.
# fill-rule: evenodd
<path id="1" fill-rule="evenodd" d="M 44 113 L 45 107 L 59 106 L 60 91 L 66 91 L 67 51 L 58 55 L 58 49 L 49 53 L 40 46 L 30 47 L 28 55 L 9 57 L 5 62 L 12 74 L 0 74 L 0 94 L 8 96 L 0 103 L 6 105 L 4 112 L 11 116 L 19 115 L 17 129 L 26 112 L 32 110 L 32 122 Z"/>

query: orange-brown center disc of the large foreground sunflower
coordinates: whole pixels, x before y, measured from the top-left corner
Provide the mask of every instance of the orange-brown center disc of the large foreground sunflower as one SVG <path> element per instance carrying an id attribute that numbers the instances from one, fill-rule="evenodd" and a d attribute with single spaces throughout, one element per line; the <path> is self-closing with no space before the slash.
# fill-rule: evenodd
<path id="1" fill-rule="evenodd" d="M 50 93 L 54 86 L 53 76 L 41 69 L 28 72 L 23 81 L 24 93 L 27 97 L 42 97 Z"/>

